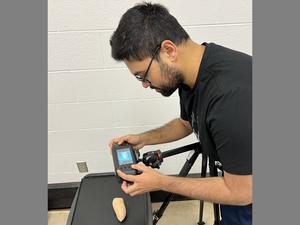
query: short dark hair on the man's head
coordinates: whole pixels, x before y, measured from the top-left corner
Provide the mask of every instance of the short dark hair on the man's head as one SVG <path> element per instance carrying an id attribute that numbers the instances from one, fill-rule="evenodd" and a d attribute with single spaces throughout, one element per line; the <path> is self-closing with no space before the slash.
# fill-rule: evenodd
<path id="1" fill-rule="evenodd" d="M 189 38 L 176 18 L 160 4 L 140 3 L 128 9 L 110 39 L 115 60 L 143 60 L 157 45 L 171 40 L 176 45 Z"/>

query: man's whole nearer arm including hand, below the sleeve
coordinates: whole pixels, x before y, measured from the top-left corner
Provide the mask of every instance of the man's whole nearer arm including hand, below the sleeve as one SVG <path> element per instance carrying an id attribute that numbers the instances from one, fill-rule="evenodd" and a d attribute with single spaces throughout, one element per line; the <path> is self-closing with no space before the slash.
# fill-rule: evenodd
<path id="1" fill-rule="evenodd" d="M 133 176 L 118 171 L 123 179 L 133 183 L 124 181 L 121 187 L 131 196 L 163 190 L 214 203 L 230 205 L 252 203 L 252 175 L 234 175 L 224 172 L 224 177 L 184 178 L 162 175 L 142 164 L 132 167 L 143 173 Z"/>

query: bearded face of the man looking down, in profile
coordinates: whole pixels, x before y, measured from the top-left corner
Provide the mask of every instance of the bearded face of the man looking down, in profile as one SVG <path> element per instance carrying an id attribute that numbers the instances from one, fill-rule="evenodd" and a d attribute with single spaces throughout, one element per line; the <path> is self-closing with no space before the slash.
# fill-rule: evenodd
<path id="1" fill-rule="evenodd" d="M 125 60 L 124 62 L 132 74 L 143 78 L 151 59 L 148 58 L 142 61 Z M 153 60 L 146 76 L 147 80 L 142 82 L 143 87 L 155 89 L 165 97 L 172 95 L 179 85 L 183 83 L 182 72 L 174 66 L 168 65 L 162 58 L 159 61 Z"/>

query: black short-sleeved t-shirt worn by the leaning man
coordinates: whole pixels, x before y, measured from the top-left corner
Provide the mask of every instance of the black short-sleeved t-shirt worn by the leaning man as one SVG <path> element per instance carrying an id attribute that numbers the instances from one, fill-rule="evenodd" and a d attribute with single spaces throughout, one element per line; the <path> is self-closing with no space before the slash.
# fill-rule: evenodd
<path id="1" fill-rule="evenodd" d="M 203 43 L 193 88 L 179 88 L 181 118 L 224 171 L 252 174 L 252 57 Z"/>

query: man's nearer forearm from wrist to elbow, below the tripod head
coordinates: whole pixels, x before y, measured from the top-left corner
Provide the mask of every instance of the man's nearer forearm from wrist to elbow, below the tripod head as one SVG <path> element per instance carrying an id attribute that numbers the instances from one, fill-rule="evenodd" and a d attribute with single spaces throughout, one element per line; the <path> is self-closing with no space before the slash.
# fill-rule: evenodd
<path id="1" fill-rule="evenodd" d="M 160 189 L 187 196 L 193 199 L 200 199 L 207 202 L 214 202 L 229 205 L 248 205 L 251 203 L 247 190 L 238 192 L 231 191 L 223 177 L 208 178 L 182 178 L 163 176 L 160 181 Z"/>

